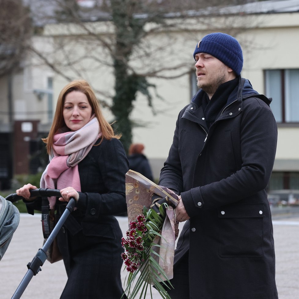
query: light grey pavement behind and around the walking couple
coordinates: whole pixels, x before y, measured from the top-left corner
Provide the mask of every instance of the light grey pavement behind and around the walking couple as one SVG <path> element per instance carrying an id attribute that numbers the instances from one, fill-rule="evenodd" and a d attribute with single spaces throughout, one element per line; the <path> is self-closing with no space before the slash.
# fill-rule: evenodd
<path id="1" fill-rule="evenodd" d="M 125 235 L 127 217 L 116 218 Z M 299 298 L 299 215 L 293 215 L 291 218 L 287 215 L 275 215 L 273 227 L 279 299 Z M 31 262 L 39 248 L 42 247 L 42 241 L 40 214 L 34 216 L 21 214 L 20 224 L 0 261 L 0 299 L 9 299 L 13 296 L 27 272 L 28 262 Z M 121 272 L 123 283 L 126 275 L 126 270 Z M 42 271 L 33 276 L 21 298 L 59 299 L 66 279 L 62 261 L 54 264 L 46 261 L 42 266 Z M 152 291 L 153 299 L 161 298 L 157 290 L 153 289 Z M 150 295 L 147 294 L 146 299 L 149 298 Z"/>

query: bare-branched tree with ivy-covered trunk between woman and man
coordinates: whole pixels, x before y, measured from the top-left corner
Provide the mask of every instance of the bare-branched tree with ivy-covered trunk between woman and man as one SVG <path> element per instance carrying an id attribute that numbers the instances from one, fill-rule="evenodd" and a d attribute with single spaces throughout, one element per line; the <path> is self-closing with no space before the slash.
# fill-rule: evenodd
<path id="1" fill-rule="evenodd" d="M 248 1 L 235 0 L 234 4 L 244 2 Z M 213 16 L 217 15 L 223 6 L 231 4 L 231 1 L 85 1 L 90 7 L 84 6 L 82 0 L 53 0 L 51 3 L 53 6 L 43 11 L 50 12 L 48 22 L 58 22 L 60 27 L 56 27 L 57 31 L 64 33 L 47 33 L 55 37 L 52 54 L 45 55 L 34 47 L 31 47 L 31 50 L 43 63 L 68 80 L 72 79 L 72 76 L 87 77 L 87 69 L 90 71 L 95 65 L 97 68 L 102 66 L 110 69 L 115 79 L 114 92 L 101 91 L 102 104 L 111 109 L 116 120 L 114 126 L 123 134 L 122 142 L 127 150 L 132 141 L 130 114 L 137 94 L 145 95 L 149 106 L 152 106 L 155 86 L 150 83 L 150 78 L 169 79 L 183 76 L 190 71 L 182 61 L 172 64 L 171 67 L 155 60 L 149 63 L 148 57 L 157 51 L 163 55 L 168 44 L 157 43 L 153 46 L 148 37 L 154 32 L 162 31 L 171 35 L 175 30 L 191 34 L 195 28 L 192 28 L 187 20 L 195 15 L 198 16 L 197 26 L 208 24 L 211 28 L 212 24 L 209 24 L 210 19 L 205 13 L 207 6 L 209 16 Z M 203 10 L 205 12 L 200 13 Z M 39 16 L 41 17 L 40 11 Z M 46 17 L 42 19 L 46 20 Z M 81 51 L 76 53 L 78 43 Z M 82 50 L 84 45 L 86 46 Z M 57 58 L 58 56 L 60 58 Z M 135 63 L 138 60 L 142 61 L 142 68 Z"/>

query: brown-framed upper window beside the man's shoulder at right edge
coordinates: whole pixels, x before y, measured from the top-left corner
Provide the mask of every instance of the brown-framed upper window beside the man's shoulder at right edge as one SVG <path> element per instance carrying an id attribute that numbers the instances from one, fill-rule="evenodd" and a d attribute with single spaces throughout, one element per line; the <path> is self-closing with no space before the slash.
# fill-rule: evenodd
<path id="1" fill-rule="evenodd" d="M 299 122 L 299 69 L 265 70 L 265 85 L 276 122 Z"/>

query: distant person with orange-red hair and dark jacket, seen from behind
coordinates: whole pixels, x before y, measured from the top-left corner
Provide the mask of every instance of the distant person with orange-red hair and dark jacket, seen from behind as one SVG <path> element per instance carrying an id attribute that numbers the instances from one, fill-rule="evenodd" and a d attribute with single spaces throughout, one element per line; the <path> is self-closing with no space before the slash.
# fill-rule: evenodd
<path id="1" fill-rule="evenodd" d="M 146 178 L 153 181 L 152 170 L 149 165 L 149 161 L 143 154 L 144 145 L 141 143 L 133 143 L 129 147 L 129 165 L 130 169 L 141 173 Z"/>

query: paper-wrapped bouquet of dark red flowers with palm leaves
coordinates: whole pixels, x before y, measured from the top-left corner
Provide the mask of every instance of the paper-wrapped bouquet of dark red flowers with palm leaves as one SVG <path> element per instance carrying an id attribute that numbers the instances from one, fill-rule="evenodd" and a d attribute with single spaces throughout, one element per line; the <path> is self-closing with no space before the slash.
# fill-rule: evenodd
<path id="1" fill-rule="evenodd" d="M 129 230 L 122 239 L 127 275 L 127 297 L 146 297 L 154 285 L 161 297 L 171 299 L 165 289 L 173 277 L 173 258 L 178 226 L 175 207 L 179 197 L 138 172 L 126 174 L 126 201 Z M 151 296 L 152 297 L 152 296 Z"/>

